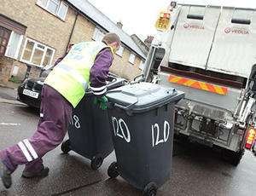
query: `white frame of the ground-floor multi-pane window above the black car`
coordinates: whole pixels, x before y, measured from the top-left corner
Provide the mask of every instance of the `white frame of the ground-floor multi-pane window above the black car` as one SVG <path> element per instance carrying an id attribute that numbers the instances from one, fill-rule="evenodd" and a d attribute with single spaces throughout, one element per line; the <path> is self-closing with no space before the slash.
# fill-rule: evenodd
<path id="1" fill-rule="evenodd" d="M 23 56 L 24 56 L 24 53 L 25 53 L 25 50 L 26 50 L 26 44 L 27 44 L 28 41 L 33 42 L 33 43 L 34 43 L 34 46 L 33 46 L 33 49 L 32 49 L 32 54 L 31 54 L 30 60 L 29 60 L 29 61 L 26 61 L 26 60 L 23 59 Z M 44 46 L 44 49 L 41 49 L 41 48 L 37 47 L 38 44 Z M 43 56 L 42 56 L 42 60 L 41 60 L 41 62 L 40 62 L 40 65 L 37 65 L 37 64 L 35 64 L 35 63 L 32 63 L 33 55 L 34 55 L 36 49 L 41 50 L 41 51 L 44 50 L 44 54 L 43 54 Z M 38 41 L 35 41 L 35 40 L 33 40 L 32 38 L 26 37 L 26 41 L 25 41 L 25 43 L 24 43 L 24 47 L 23 47 L 22 53 L 21 53 L 21 55 L 20 55 L 20 61 L 21 61 L 21 62 L 24 62 L 24 63 L 27 63 L 27 64 L 30 64 L 30 65 L 32 65 L 32 66 L 38 66 L 38 67 L 41 67 L 41 68 L 42 68 L 42 67 L 44 67 L 44 66 L 43 66 L 43 63 L 44 63 L 44 58 L 45 58 L 47 49 L 50 49 L 50 50 L 53 51 L 52 56 L 51 56 L 51 59 L 50 59 L 50 61 L 49 61 L 49 65 L 48 65 L 48 66 L 51 66 L 52 61 L 53 61 L 53 58 L 54 58 L 54 55 L 55 55 L 55 49 L 50 48 L 49 46 L 45 45 L 44 43 L 39 43 Z M 47 66 L 47 65 L 46 65 L 46 66 Z"/>

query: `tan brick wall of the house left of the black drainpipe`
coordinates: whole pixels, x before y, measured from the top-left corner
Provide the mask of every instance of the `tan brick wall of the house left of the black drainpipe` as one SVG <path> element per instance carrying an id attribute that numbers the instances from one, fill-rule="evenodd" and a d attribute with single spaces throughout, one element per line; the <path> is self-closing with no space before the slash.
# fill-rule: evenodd
<path id="1" fill-rule="evenodd" d="M 11 76 L 13 67 L 18 66 L 19 72 L 16 78 L 22 80 L 26 74 L 26 63 L 20 62 L 20 56 L 26 42 L 26 37 L 32 38 L 34 41 L 43 43 L 52 49 L 55 49 L 55 55 L 53 63 L 64 54 L 67 48 L 68 38 L 72 31 L 73 22 L 75 19 L 76 11 L 74 9 L 67 10 L 66 20 L 63 21 L 53 14 L 49 14 L 48 11 L 42 9 L 37 5 L 37 0 L 0 0 L 0 13 L 9 17 L 12 20 L 19 22 L 20 24 L 27 26 L 26 34 L 21 43 L 20 52 L 17 60 L 13 60 L 12 65 L 8 65 L 8 71 L 1 72 L 1 78 L 7 81 L 6 78 Z M 11 5 L 11 6 L 10 6 Z M 9 58 L 3 57 L 4 61 L 8 61 Z M 5 60 L 7 59 L 7 60 Z M 40 68 L 34 66 L 32 68 L 30 77 L 38 77 Z"/>

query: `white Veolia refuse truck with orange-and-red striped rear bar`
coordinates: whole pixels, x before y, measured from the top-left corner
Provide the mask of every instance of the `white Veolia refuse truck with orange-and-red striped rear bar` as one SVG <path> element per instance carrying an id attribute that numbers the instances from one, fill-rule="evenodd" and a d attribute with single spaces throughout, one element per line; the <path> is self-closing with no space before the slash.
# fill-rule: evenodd
<path id="1" fill-rule="evenodd" d="M 255 9 L 171 3 L 137 80 L 185 92 L 175 134 L 237 165 L 255 136 Z"/>

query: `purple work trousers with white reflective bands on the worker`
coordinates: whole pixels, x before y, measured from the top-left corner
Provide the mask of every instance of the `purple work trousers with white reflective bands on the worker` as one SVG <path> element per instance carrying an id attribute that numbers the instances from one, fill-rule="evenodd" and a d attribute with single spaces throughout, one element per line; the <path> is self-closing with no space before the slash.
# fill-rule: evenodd
<path id="1" fill-rule="evenodd" d="M 72 116 L 72 105 L 55 89 L 44 85 L 41 94 L 38 130 L 31 138 L 0 151 L 3 164 L 14 171 L 18 164 L 26 164 L 25 171 L 43 170 L 45 153 L 57 147 L 67 133 Z"/>

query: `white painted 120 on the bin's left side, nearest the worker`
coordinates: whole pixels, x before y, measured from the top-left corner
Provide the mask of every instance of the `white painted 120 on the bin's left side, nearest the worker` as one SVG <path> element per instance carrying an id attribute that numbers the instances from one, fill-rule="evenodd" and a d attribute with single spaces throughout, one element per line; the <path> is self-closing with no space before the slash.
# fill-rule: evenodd
<path id="1" fill-rule="evenodd" d="M 113 134 L 115 136 L 118 136 L 118 137 L 124 139 L 127 143 L 130 143 L 131 134 L 127 127 L 127 124 L 125 124 L 125 121 L 122 118 L 120 118 L 118 120 L 117 118 L 112 117 L 112 124 L 113 124 Z"/>

